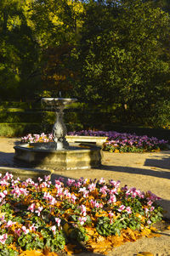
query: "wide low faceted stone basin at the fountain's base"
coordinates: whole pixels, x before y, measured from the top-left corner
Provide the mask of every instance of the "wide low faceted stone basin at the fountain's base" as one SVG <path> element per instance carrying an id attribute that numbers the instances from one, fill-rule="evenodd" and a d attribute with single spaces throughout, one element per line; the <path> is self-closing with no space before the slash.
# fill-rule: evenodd
<path id="1" fill-rule="evenodd" d="M 54 150 L 54 146 L 53 142 L 14 146 L 14 162 L 53 170 L 94 168 L 101 164 L 101 148 L 96 145 L 70 144 L 62 151 Z"/>

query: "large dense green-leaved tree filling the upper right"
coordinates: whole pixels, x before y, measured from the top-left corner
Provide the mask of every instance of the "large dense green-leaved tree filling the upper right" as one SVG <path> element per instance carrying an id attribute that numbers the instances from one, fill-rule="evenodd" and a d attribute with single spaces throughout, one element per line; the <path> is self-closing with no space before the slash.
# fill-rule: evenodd
<path id="1" fill-rule="evenodd" d="M 127 106 L 124 120 L 144 121 L 169 94 L 163 48 L 168 33 L 168 14 L 151 2 L 90 1 L 79 44 L 77 94 L 94 105 Z"/>

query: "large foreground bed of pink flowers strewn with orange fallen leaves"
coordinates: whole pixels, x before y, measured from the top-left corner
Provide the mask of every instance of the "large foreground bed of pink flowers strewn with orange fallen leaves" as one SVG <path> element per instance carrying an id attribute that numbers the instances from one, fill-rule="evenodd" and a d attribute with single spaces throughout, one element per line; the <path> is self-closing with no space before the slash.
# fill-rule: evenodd
<path id="1" fill-rule="evenodd" d="M 150 191 L 121 188 L 120 181 L 106 183 L 103 178 L 59 178 L 52 185 L 48 176 L 35 183 L 6 173 L 0 179 L 0 255 L 78 253 L 82 244 L 105 253 L 151 236 L 152 225 L 162 216 L 159 199 Z"/>

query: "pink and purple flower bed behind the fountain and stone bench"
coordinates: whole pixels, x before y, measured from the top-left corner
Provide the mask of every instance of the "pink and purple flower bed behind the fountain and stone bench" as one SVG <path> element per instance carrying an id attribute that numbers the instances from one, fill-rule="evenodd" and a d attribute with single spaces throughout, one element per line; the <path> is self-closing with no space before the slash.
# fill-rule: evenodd
<path id="1" fill-rule="evenodd" d="M 104 151 L 110 152 L 146 152 L 167 150 L 167 140 L 148 137 L 147 135 L 138 136 L 136 134 L 121 134 L 117 132 L 103 132 L 82 130 L 80 132 L 71 132 L 74 136 L 104 136 L 108 137 L 103 145 Z M 53 141 L 52 134 L 28 134 L 21 138 L 22 142 L 49 142 Z"/>

